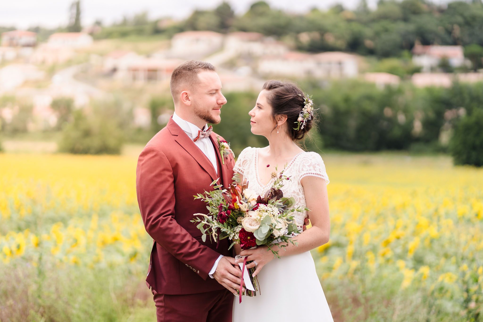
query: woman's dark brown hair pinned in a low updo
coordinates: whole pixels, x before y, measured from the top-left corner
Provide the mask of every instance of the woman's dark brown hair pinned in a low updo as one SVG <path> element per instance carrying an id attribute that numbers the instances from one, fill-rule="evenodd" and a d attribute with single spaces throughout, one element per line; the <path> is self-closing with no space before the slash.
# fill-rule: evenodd
<path id="1" fill-rule="evenodd" d="M 287 134 L 292 140 L 302 140 L 312 128 L 315 116 L 307 120 L 303 129 L 294 129 L 297 128 L 298 114 L 305 105 L 305 94 L 302 90 L 294 83 L 275 80 L 265 82 L 263 89 L 269 92 L 267 100 L 272 107 L 273 120 L 276 122 L 276 115 L 286 115 Z"/>

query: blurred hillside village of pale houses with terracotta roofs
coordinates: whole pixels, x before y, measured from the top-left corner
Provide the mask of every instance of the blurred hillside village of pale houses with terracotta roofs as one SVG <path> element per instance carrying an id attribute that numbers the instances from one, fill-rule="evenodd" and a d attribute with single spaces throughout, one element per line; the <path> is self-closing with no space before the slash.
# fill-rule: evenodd
<path id="1" fill-rule="evenodd" d="M 303 37 L 299 35 L 299 37 Z M 367 71 L 367 58 L 344 52 L 305 53 L 284 42 L 257 32 L 185 31 L 175 34 L 166 48 L 149 54 L 133 50 L 89 53 L 95 46 L 84 32 L 52 34 L 38 42 L 35 32 L 13 30 L 1 34 L 0 97 L 15 95 L 31 99 L 36 120 L 30 130 L 53 127 L 57 115 L 50 104 L 55 98 L 70 97 L 78 108 L 90 100 L 109 96 L 109 88 L 96 86 L 98 80 L 110 86 L 156 86 L 167 90 L 172 70 L 187 59 L 202 59 L 218 69 L 224 91 L 259 90 L 265 80 L 288 78 L 360 79 L 379 88 L 411 82 L 416 87 L 444 86 L 453 82 L 483 81 L 483 72 L 444 73 L 442 60 L 452 68 L 469 66 L 462 46 L 421 45 L 412 50 L 412 63 L 420 72 L 408 79 L 387 72 Z M 85 53 L 89 53 L 85 56 Z M 78 59 L 80 56 L 83 59 Z M 80 61 L 79 61 L 80 60 Z M 62 68 L 59 69 L 59 66 Z M 55 72 L 49 72 L 55 70 Z M 84 77 L 78 79 L 82 73 Z M 85 82 L 85 78 L 89 81 Z M 0 117 L 9 122 L 18 112 L 15 104 L 0 108 Z M 133 111 L 136 126 L 148 127 L 151 120 L 145 107 Z"/>

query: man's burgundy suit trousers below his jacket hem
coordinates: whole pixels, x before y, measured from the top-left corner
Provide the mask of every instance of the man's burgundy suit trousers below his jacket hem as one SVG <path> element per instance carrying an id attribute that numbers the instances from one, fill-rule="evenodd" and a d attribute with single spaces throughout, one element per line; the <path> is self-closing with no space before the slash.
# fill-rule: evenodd
<path id="1" fill-rule="evenodd" d="M 231 322 L 234 295 L 227 289 L 169 295 L 151 290 L 157 322 Z"/>

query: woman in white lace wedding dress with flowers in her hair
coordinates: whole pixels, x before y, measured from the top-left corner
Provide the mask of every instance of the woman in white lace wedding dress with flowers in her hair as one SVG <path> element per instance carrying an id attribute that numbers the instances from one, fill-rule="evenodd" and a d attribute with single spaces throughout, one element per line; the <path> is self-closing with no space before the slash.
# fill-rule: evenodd
<path id="1" fill-rule="evenodd" d="M 295 143 L 310 130 L 313 122 L 312 101 L 297 85 L 268 81 L 258 95 L 251 116 L 251 131 L 269 140 L 265 148 L 244 149 L 238 157 L 235 172 L 249 182 L 248 188 L 263 196 L 273 182 L 275 167 L 280 172 L 286 164 L 284 196 L 295 198 L 295 207 L 311 211 L 295 212 L 301 230 L 305 217 L 312 227 L 300 233 L 279 250 L 280 259 L 274 258 L 266 246 L 236 252 L 253 261 L 261 294 L 243 296 L 234 301 L 233 321 L 321 321 L 332 322 L 332 315 L 324 291 L 315 272 L 310 250 L 328 242 L 330 234 L 327 177 L 319 154 L 305 152 Z M 297 129 L 298 127 L 298 129 Z M 237 245 L 238 246 L 238 245 Z"/>

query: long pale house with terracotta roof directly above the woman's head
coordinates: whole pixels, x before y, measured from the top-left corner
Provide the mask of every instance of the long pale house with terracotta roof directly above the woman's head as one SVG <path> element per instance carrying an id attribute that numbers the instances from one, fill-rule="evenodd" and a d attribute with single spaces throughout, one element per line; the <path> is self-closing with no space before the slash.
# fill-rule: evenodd
<path id="1" fill-rule="evenodd" d="M 260 58 L 258 73 L 296 78 L 355 77 L 358 74 L 358 62 L 356 56 L 341 52 L 315 55 L 287 52 L 283 56 Z"/>

